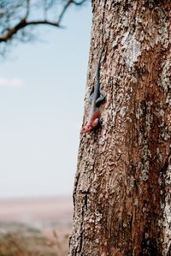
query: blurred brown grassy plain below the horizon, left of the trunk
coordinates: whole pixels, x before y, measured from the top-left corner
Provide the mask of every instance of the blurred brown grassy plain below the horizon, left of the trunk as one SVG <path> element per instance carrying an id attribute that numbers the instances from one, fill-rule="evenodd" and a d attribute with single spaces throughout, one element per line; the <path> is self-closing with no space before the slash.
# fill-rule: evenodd
<path id="1" fill-rule="evenodd" d="M 66 256 L 71 198 L 0 200 L 0 256 Z"/>

